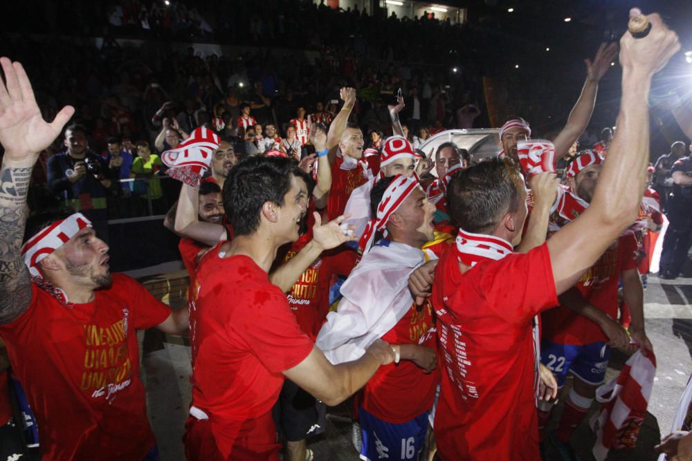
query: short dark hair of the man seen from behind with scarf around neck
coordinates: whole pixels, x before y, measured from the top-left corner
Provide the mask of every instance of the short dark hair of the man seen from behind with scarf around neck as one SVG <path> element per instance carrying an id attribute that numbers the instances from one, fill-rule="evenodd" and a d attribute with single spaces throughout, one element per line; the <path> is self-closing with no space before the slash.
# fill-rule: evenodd
<path id="1" fill-rule="evenodd" d="M 523 178 L 509 158 L 490 158 L 455 174 L 447 187 L 447 208 L 467 232 L 490 234 L 502 214 L 519 209 Z"/>

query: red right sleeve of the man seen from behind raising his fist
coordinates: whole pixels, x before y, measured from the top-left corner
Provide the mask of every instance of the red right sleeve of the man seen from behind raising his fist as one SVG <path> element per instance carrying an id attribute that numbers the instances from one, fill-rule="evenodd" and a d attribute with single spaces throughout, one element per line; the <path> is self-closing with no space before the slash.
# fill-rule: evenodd
<path id="1" fill-rule="evenodd" d="M 550 253 L 545 243 L 526 254 L 511 254 L 500 263 L 478 268 L 480 294 L 498 317 L 525 323 L 558 305 Z"/>

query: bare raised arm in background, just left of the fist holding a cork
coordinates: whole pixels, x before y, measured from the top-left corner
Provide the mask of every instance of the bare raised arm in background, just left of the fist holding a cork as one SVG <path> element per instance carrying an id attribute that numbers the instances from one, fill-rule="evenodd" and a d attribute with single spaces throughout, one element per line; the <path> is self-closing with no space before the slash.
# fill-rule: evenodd
<path id="1" fill-rule="evenodd" d="M 610 68 L 610 63 L 616 56 L 617 43 L 610 45 L 603 43 L 599 47 L 593 62 L 590 59 L 584 60 L 586 63 L 586 81 L 583 88 L 581 88 L 579 100 L 576 101 L 572 112 L 570 112 L 570 117 L 567 118 L 565 128 L 553 140 L 553 144 L 555 144 L 555 161 L 567 155 L 567 151 L 570 150 L 572 144 L 579 139 L 581 133 L 588 126 L 591 114 L 594 111 L 599 82 Z"/>

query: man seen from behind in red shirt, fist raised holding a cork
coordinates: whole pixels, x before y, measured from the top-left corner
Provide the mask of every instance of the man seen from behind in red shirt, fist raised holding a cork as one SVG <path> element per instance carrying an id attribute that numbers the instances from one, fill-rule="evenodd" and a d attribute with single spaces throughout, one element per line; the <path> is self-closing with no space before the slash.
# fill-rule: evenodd
<path id="1" fill-rule="evenodd" d="M 630 15 L 637 13 L 634 8 Z M 680 49 L 659 15 L 647 18 L 647 37 L 626 32 L 620 41 L 619 129 L 581 216 L 543 245 L 513 253 L 527 214 L 518 170 L 491 160 L 450 182 L 450 211 L 461 229 L 432 283 L 442 375 L 435 435 L 442 460 L 540 457 L 534 317 L 554 307 L 558 294 L 637 219 L 649 158 L 651 77 Z M 429 293 L 430 275 L 428 265 L 410 278 L 417 297 Z"/>

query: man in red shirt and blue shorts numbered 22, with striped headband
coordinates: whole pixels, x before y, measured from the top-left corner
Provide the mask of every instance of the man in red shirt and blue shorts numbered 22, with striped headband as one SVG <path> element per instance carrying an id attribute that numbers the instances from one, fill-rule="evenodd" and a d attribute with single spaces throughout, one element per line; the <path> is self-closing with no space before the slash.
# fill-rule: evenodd
<path id="1" fill-rule="evenodd" d="M 585 151 L 567 167 L 567 185 L 579 198 L 591 203 L 602 168 L 603 157 L 595 151 Z M 551 442 L 568 458 L 574 456 L 570 436 L 586 416 L 596 388 L 605 379 L 609 346 L 624 348 L 630 342 L 626 330 L 617 322 L 619 280 L 632 317 L 630 335 L 641 348 L 651 349 L 644 331 L 644 291 L 637 270 L 637 247 L 632 232 L 617 238 L 574 288 L 559 297 L 560 306 L 541 316 L 541 363 L 554 373 L 559 388 L 565 384 L 568 372 L 574 376 L 560 424 L 551 435 Z M 545 427 L 553 405 L 554 402 L 540 403 L 539 430 Z"/>

